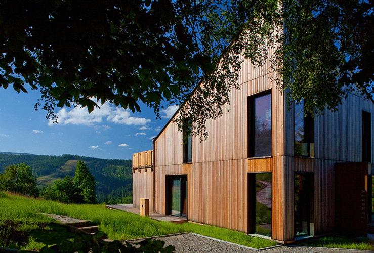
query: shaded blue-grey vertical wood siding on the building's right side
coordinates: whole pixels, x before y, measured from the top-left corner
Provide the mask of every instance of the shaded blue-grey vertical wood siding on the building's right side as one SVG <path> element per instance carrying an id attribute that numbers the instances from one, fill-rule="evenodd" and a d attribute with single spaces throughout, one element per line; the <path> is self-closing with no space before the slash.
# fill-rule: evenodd
<path id="1" fill-rule="evenodd" d="M 359 162 L 361 154 L 362 110 L 371 113 L 374 126 L 374 104 L 358 94 L 348 93 L 336 112 L 325 110 L 314 120 L 315 158 L 294 155 L 294 109 L 285 113 L 285 155 L 295 172 L 314 173 L 314 234 L 334 230 L 334 164 Z M 374 143 L 374 138 L 371 138 Z M 374 152 L 371 153 L 372 161 Z M 287 162 L 286 162 L 287 163 Z M 287 166 L 285 165 L 287 170 Z M 290 166 L 289 166 L 290 167 Z M 289 185 L 290 188 L 294 184 Z"/>

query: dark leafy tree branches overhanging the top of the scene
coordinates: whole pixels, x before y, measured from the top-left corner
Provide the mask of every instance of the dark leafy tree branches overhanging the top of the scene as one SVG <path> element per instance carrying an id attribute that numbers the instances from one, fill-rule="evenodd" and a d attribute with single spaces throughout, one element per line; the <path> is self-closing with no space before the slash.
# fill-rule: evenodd
<path id="1" fill-rule="evenodd" d="M 141 101 L 159 116 L 162 100 L 186 101 L 180 129 L 190 118 L 205 138 L 206 120 L 220 117 L 238 88 L 240 54 L 261 66 L 274 48 L 278 88 L 309 112 L 335 110 L 351 85 L 372 92 L 373 8 L 358 0 L 5 0 L 0 86 L 38 89 L 35 108 L 54 120 L 55 106 L 91 112 L 109 101 L 140 111 Z"/>

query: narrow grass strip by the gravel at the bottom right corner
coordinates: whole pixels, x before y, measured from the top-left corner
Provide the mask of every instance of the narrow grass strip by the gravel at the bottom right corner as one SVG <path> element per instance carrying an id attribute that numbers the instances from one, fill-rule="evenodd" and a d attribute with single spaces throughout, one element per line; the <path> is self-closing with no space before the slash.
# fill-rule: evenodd
<path id="1" fill-rule="evenodd" d="M 326 247 L 326 248 L 346 248 L 359 250 L 374 250 L 374 245 L 370 244 L 367 238 L 352 238 L 347 236 L 324 236 L 310 238 L 297 243 L 303 246 Z"/>

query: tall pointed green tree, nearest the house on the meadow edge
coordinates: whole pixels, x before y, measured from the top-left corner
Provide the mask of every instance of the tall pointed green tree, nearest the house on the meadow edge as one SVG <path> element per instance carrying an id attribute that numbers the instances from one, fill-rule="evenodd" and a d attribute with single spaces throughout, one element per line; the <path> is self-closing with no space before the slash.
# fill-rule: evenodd
<path id="1" fill-rule="evenodd" d="M 96 202 L 95 178 L 88 170 L 86 164 L 80 160 L 76 164 L 73 182 L 80 189 L 80 194 L 85 203 Z"/>

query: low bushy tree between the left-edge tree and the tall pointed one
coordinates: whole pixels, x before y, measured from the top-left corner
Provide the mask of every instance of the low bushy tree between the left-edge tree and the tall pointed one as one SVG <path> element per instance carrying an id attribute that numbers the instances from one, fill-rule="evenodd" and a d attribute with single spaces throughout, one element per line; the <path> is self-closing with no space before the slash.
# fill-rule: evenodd
<path id="1" fill-rule="evenodd" d="M 63 203 L 79 204 L 84 202 L 80 188 L 74 184 L 73 178 L 70 176 L 53 181 L 52 185 L 44 187 L 40 191 L 40 196 Z"/>

